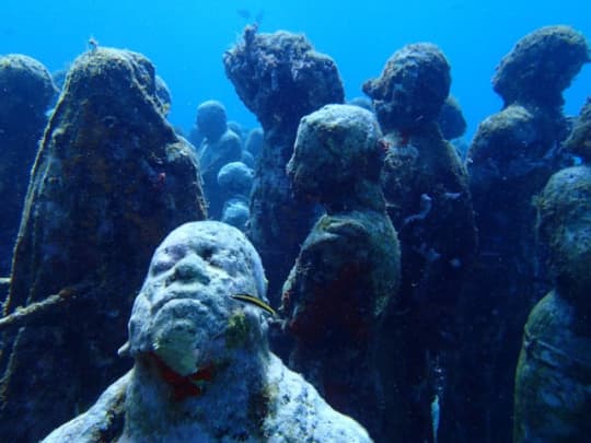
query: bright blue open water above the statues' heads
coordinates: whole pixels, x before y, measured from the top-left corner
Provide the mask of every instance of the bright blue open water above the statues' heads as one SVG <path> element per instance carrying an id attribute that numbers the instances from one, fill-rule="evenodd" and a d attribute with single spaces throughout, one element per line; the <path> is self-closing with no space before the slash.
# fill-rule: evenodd
<path id="1" fill-rule="evenodd" d="M 403 45 L 437 44 L 452 66 L 452 93 L 468 121 L 467 138 L 501 107 L 490 78 L 519 38 L 541 26 L 568 24 L 591 40 L 589 0 L 1 0 L 0 54 L 25 54 L 54 71 L 86 50 L 93 36 L 102 46 L 136 50 L 155 63 L 173 95 L 174 125 L 188 130 L 197 105 L 216 98 L 230 119 L 251 127 L 256 119 L 225 78 L 221 57 L 259 13 L 262 32 L 304 33 L 333 57 L 347 98 L 363 95 L 362 82 L 376 77 Z M 578 114 L 588 95 L 590 66 L 567 91 L 565 112 Z"/>

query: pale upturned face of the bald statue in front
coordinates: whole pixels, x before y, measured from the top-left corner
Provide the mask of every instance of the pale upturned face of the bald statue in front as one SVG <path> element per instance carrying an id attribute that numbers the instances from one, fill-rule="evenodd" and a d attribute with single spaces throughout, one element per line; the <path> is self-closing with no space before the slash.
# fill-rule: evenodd
<path id="1" fill-rule="evenodd" d="M 232 360 L 234 345 L 263 340 L 266 323 L 236 293 L 264 298 L 258 255 L 244 235 L 218 222 L 187 223 L 155 250 L 129 320 L 132 354 L 155 354 L 187 376 Z M 236 317 L 240 334 L 236 340 Z M 240 337 L 239 337 L 240 338 Z"/>

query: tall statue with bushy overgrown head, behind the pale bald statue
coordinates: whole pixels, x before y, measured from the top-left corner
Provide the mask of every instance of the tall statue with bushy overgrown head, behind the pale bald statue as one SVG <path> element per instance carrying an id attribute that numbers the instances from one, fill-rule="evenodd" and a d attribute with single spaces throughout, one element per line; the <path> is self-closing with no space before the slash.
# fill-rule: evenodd
<path id="1" fill-rule="evenodd" d="M 279 31 L 256 34 L 223 57 L 225 73 L 265 131 L 255 171 L 248 236 L 263 257 L 269 296 L 279 291 L 313 220 L 313 208 L 296 202 L 286 176 L 300 118 L 328 103 L 343 103 L 335 62 L 316 53 L 302 35 Z"/>

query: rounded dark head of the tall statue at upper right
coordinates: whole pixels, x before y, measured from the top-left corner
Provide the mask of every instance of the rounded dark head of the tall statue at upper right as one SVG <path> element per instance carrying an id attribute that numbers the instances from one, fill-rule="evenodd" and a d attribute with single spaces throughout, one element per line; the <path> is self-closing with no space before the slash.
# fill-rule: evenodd
<path id="1" fill-rule="evenodd" d="M 569 26 L 546 26 L 521 38 L 493 78 L 505 105 L 560 106 L 566 90 L 590 61 L 584 36 Z"/>

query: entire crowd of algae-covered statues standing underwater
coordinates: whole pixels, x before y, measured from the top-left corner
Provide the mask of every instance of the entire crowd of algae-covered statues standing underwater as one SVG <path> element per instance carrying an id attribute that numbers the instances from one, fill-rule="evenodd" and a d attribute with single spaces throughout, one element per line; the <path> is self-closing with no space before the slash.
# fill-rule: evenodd
<path id="1" fill-rule="evenodd" d="M 394 53 L 362 85 L 363 107 L 343 104 L 336 63 L 305 37 L 247 26 L 223 55 L 262 125 L 246 149 L 213 101 L 199 106 L 197 150 L 178 136 L 165 85 L 139 54 L 79 57 L 48 118 L 56 92 L 43 66 L 3 59 L 0 191 L 13 217 L 0 244 L 10 273 L 0 440 L 45 436 L 130 358 L 134 370 L 49 441 L 81 423 L 86 441 L 188 429 L 205 441 L 301 436 L 279 420 L 297 405 L 274 389 L 314 398 L 305 417 L 325 439 L 340 432 L 331 420 L 341 438 L 378 442 L 589 434 L 591 102 L 568 118 L 561 96 L 590 61 L 575 30 L 537 30 L 500 61 L 502 109 L 467 152 L 449 141 L 462 117 L 432 44 Z M 31 89 L 44 93 L 23 106 L 15 97 Z M 3 165 L 18 163 L 33 164 L 30 183 L 16 168 L 9 180 Z M 165 235 L 207 218 L 243 231 L 256 252 L 239 231 L 185 225 L 157 249 L 142 285 Z M 198 302 L 169 306 L 189 292 Z M 240 314 L 240 293 L 278 312 Z M 267 328 L 273 351 L 315 390 L 268 357 Z M 236 365 L 252 371 L 247 388 L 232 378 Z M 220 381 L 225 394 L 213 397 Z M 138 407 L 140 394 L 154 404 Z M 211 405 L 229 416 L 207 417 Z"/>

